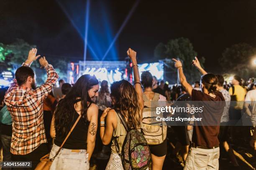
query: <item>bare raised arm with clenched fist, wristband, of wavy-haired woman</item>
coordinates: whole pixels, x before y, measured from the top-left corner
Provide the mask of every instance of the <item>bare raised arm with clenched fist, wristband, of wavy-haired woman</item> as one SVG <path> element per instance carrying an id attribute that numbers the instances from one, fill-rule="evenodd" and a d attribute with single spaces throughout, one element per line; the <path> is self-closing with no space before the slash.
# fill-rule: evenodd
<path id="1" fill-rule="evenodd" d="M 129 48 L 127 50 L 127 55 L 128 55 L 128 57 L 130 57 L 130 59 L 133 63 L 134 88 L 138 94 L 138 102 L 141 107 L 141 121 L 142 121 L 142 110 L 144 107 L 144 101 L 143 101 L 143 91 L 141 88 L 141 79 L 140 79 L 140 74 L 138 71 L 138 64 L 137 64 L 137 60 L 136 60 L 136 51 Z"/>

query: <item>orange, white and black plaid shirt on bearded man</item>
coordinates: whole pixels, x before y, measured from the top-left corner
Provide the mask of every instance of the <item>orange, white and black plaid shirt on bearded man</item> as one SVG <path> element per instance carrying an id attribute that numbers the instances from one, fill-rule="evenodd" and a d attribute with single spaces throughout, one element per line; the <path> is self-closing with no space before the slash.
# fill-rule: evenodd
<path id="1" fill-rule="evenodd" d="M 23 63 L 22 66 L 30 65 Z M 4 101 L 13 119 L 10 151 L 14 155 L 26 155 L 42 143 L 47 143 L 43 100 L 51 92 L 59 76 L 52 65 L 47 65 L 45 69 L 47 80 L 36 90 L 18 86 L 14 79 L 5 95 Z"/>

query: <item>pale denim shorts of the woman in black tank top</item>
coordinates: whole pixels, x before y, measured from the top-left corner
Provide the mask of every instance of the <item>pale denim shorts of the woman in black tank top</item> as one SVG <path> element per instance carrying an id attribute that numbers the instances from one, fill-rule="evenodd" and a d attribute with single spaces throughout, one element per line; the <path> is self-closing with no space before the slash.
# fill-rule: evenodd
<path id="1" fill-rule="evenodd" d="M 54 144 L 51 149 L 50 158 L 53 158 L 58 150 L 59 146 Z M 61 151 L 51 164 L 50 170 L 89 170 L 88 155 L 86 150 L 61 148 Z"/>

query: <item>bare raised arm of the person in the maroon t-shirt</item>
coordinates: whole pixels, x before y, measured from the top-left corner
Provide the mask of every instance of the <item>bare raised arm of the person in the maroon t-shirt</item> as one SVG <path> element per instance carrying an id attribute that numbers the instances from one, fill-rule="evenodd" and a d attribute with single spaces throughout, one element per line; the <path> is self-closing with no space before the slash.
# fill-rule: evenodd
<path id="1" fill-rule="evenodd" d="M 174 60 L 175 67 L 178 69 L 180 84 L 182 84 L 182 86 L 185 88 L 186 92 L 189 93 L 189 95 L 191 96 L 193 87 L 191 85 L 189 85 L 189 83 L 187 82 L 187 79 L 183 73 L 182 63 L 180 62 L 180 60 L 176 60 L 174 58 L 172 60 Z"/>

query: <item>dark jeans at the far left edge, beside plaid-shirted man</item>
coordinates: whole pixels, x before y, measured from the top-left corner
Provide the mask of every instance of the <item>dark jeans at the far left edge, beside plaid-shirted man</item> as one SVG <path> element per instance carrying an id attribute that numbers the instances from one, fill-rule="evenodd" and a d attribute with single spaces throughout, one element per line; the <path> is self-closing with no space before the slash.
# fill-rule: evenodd
<path id="1" fill-rule="evenodd" d="M 11 161 L 11 153 L 10 153 L 11 140 L 12 140 L 11 136 L 1 135 L 1 142 L 3 145 L 3 161 Z M 2 170 L 11 170 L 11 168 L 2 168 Z"/>

